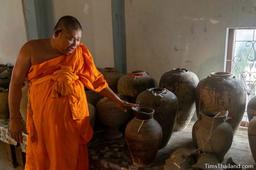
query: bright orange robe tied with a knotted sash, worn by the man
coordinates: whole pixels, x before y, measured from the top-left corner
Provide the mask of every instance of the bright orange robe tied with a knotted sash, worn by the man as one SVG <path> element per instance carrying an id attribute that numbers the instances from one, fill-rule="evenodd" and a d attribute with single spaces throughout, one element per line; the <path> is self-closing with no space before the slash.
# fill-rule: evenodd
<path id="1" fill-rule="evenodd" d="M 84 86 L 99 92 L 108 84 L 88 49 L 80 44 L 31 66 L 25 170 L 88 170 L 87 143 L 93 130 Z"/>

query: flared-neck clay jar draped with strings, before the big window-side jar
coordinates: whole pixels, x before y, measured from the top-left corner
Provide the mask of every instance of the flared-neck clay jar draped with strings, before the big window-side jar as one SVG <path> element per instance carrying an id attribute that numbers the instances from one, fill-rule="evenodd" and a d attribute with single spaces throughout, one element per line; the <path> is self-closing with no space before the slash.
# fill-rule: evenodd
<path id="1" fill-rule="evenodd" d="M 226 117 L 216 116 L 207 110 L 201 110 L 199 121 L 192 128 L 193 143 L 201 152 L 214 154 L 219 161 L 223 161 L 232 145 L 233 130 L 230 124 L 224 122 Z M 219 113 L 219 112 L 218 112 Z"/>

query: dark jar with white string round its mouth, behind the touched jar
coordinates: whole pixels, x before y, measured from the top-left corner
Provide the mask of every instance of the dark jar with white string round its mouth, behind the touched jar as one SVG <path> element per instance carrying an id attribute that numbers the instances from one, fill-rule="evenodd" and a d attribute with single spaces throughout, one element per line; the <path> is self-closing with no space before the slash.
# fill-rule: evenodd
<path id="1" fill-rule="evenodd" d="M 178 112 L 177 97 L 167 89 L 150 88 L 138 95 L 136 103 L 141 107 L 155 110 L 154 119 L 161 125 L 163 130 L 160 148 L 164 148 L 173 133 Z"/>

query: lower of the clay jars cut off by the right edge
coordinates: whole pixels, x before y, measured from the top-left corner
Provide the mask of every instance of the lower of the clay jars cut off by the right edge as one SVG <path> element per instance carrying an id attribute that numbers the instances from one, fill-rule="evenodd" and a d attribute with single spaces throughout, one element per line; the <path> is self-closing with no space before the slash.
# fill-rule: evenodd
<path id="1" fill-rule="evenodd" d="M 248 126 L 248 140 L 250 144 L 250 150 L 252 152 L 252 157 L 254 159 L 254 162 L 256 162 L 256 117 L 253 117 L 253 119 L 250 121 Z"/>

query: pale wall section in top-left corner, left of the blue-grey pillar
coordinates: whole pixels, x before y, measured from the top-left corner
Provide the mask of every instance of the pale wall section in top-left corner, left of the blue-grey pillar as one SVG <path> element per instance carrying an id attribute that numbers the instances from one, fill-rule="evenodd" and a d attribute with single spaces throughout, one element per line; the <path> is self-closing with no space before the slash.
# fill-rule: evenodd
<path id="1" fill-rule="evenodd" d="M 0 0 L 0 64 L 15 64 L 27 41 L 21 0 Z"/>

